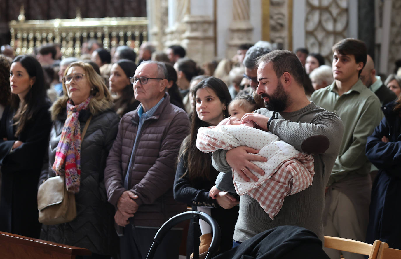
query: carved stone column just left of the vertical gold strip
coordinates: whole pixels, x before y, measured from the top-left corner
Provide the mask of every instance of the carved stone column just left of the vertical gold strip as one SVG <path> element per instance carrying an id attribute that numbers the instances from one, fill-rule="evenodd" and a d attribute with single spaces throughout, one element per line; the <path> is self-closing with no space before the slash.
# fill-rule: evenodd
<path id="1" fill-rule="evenodd" d="M 238 46 L 251 43 L 253 26 L 249 22 L 249 0 L 233 0 L 233 22 L 229 27 L 227 42 L 227 57 L 237 53 Z"/>

